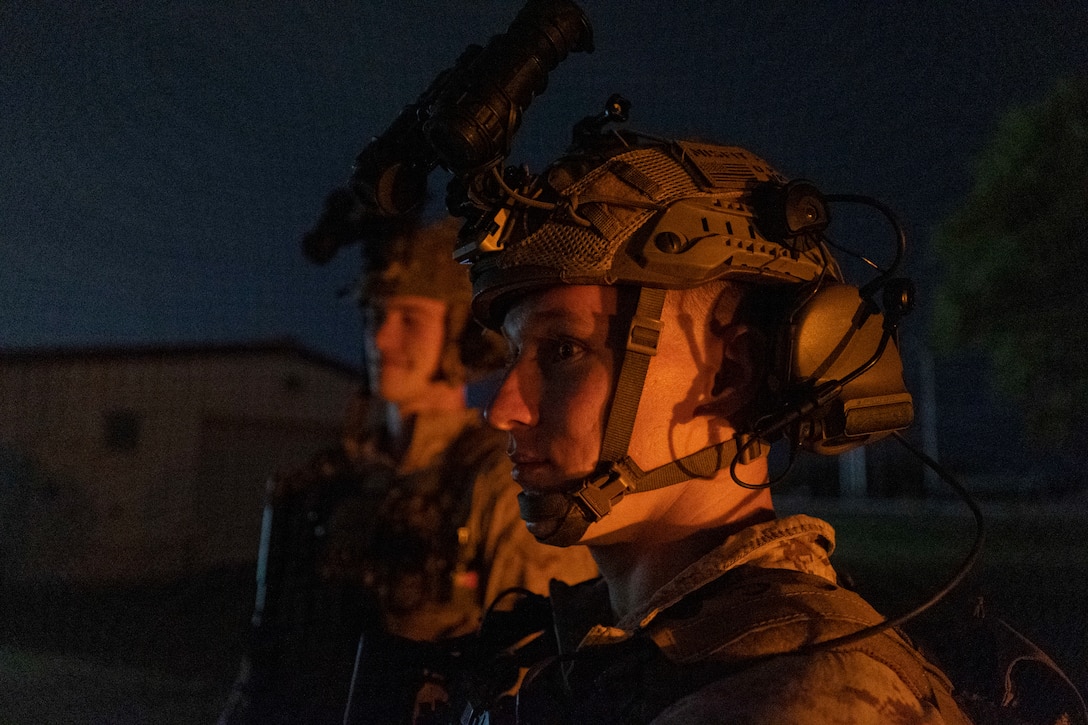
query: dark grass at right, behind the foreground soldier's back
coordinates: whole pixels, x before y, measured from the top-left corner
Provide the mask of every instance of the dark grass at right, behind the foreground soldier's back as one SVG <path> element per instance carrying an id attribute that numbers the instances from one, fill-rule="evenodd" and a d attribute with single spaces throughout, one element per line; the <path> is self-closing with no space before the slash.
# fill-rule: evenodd
<path id="1" fill-rule="evenodd" d="M 908 611 L 950 580 L 975 538 L 965 515 L 828 514 L 833 560 L 878 610 Z M 940 652 L 980 598 L 1088 692 L 1088 512 L 1013 512 L 987 517 L 982 554 L 952 592 L 907 625 Z M 945 652 L 947 659 L 959 656 Z"/>

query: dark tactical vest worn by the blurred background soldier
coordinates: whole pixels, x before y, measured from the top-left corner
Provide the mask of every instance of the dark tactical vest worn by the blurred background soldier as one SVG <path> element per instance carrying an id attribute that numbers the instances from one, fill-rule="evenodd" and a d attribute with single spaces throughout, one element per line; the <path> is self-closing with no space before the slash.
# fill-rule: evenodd
<path id="1" fill-rule="evenodd" d="M 502 456 L 500 435 L 468 426 L 433 466 L 408 476 L 376 459 L 353 469 L 333 452 L 297 480 L 277 481 L 248 662 L 235 686 L 244 702 L 224 722 L 338 725 L 360 632 L 381 647 L 386 617 L 425 602 L 474 617 L 471 487 Z M 391 671 L 417 666 L 411 653 L 396 663 L 374 654 Z"/>

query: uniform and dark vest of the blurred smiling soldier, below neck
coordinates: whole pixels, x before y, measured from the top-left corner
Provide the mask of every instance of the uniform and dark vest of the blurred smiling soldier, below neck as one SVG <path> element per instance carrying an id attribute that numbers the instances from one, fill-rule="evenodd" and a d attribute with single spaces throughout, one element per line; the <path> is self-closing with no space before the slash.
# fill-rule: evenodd
<path id="1" fill-rule="evenodd" d="M 360 634 L 355 722 L 408 722 L 446 664 L 434 642 L 473 631 L 508 588 L 596 576 L 588 550 L 526 529 L 505 438 L 479 411 L 411 425 L 401 452 L 375 435 L 351 470 L 323 456 L 320 475 L 276 482 L 251 654 L 221 723 L 341 723 Z"/>

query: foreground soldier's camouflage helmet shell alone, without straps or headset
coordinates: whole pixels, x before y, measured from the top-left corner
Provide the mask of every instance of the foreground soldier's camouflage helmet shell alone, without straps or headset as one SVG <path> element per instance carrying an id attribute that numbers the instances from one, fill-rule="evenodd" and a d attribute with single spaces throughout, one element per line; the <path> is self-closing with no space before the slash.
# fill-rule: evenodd
<path id="1" fill-rule="evenodd" d="M 570 156 L 541 181 L 536 198 L 555 208 L 517 209 L 502 236 L 478 245 L 472 307 L 489 327 L 511 296 L 558 283 L 679 288 L 840 277 L 820 245 L 757 219 L 763 189 L 787 180 L 740 147 L 675 142 Z M 823 207 L 801 207 L 808 223 L 826 224 Z"/>

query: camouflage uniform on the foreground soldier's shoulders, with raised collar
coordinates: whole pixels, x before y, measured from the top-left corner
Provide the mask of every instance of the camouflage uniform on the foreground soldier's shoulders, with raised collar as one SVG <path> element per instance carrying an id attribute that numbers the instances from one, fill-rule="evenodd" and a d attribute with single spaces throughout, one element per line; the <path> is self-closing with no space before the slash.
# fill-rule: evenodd
<path id="1" fill-rule="evenodd" d="M 559 658 L 527 678 L 509 720 L 968 725 L 948 679 L 894 631 L 795 652 L 881 619 L 834 583 L 833 546 L 808 516 L 751 526 L 620 622 L 603 580 L 554 585 Z"/>

